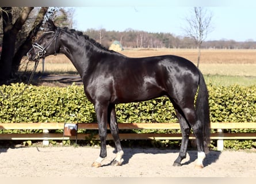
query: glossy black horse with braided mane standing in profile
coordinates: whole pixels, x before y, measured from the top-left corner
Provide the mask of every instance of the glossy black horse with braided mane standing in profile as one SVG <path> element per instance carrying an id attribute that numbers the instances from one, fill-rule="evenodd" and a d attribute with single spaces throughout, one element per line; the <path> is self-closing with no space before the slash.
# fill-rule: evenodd
<path id="1" fill-rule="evenodd" d="M 29 60 L 39 61 L 60 52 L 77 68 L 86 97 L 94 104 L 97 114 L 101 151 L 93 167 L 100 167 L 106 157 L 107 124 L 117 150 L 112 165 L 123 162 L 115 105 L 163 95 L 172 102 L 182 131 L 181 150 L 173 166 L 181 166 L 182 159 L 186 158 L 192 128 L 198 150 L 196 166 L 203 167 L 210 135 L 208 91 L 201 72 L 192 62 L 173 55 L 127 57 L 109 51 L 74 29 L 59 28 L 51 20 L 47 22 L 46 29 L 28 52 Z"/>

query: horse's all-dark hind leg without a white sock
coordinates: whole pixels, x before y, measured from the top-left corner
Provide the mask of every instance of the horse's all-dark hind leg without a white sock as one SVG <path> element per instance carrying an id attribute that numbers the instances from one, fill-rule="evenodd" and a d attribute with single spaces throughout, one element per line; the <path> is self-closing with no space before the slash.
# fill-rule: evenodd
<path id="1" fill-rule="evenodd" d="M 188 141 L 189 141 L 189 133 L 190 127 L 186 122 L 184 115 L 182 112 L 180 113 L 177 107 L 175 107 L 175 112 L 179 120 L 179 124 L 181 126 L 181 133 L 182 133 L 182 140 L 181 140 L 181 149 L 179 151 L 178 158 L 174 161 L 173 166 L 181 166 L 181 161 L 186 158 L 186 151 L 188 148 Z"/>

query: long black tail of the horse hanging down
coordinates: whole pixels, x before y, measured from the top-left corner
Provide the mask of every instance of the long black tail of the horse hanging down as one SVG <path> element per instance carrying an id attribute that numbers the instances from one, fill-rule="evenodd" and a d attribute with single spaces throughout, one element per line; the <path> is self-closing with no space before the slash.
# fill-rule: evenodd
<path id="1" fill-rule="evenodd" d="M 199 71 L 199 70 L 198 70 Z M 198 119 L 202 123 L 203 129 L 203 139 L 204 139 L 204 151 L 205 153 L 209 152 L 210 144 L 210 117 L 209 117 L 209 102 L 208 102 L 208 90 L 204 77 L 202 76 L 201 71 L 199 71 L 199 89 L 196 99 L 196 114 Z"/>

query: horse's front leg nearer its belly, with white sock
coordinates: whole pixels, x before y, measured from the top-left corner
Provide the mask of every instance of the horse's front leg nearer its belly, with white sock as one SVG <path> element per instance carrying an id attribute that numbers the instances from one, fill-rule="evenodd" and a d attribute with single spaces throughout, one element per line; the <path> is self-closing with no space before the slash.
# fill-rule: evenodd
<path id="1" fill-rule="evenodd" d="M 114 139 L 114 144 L 116 145 L 116 158 L 111 163 L 112 166 L 121 166 L 124 159 L 122 158 L 124 155 L 124 151 L 122 150 L 120 138 L 119 138 L 119 128 L 117 126 L 117 119 L 116 119 L 116 109 L 114 105 L 109 106 L 110 111 L 110 131 Z"/>

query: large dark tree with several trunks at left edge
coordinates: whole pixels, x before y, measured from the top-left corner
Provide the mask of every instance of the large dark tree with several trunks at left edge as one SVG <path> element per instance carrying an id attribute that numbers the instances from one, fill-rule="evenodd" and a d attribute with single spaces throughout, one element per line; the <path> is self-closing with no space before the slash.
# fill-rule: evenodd
<path id="1" fill-rule="evenodd" d="M 35 21 L 30 22 L 32 26 L 27 30 L 29 26 L 25 23 L 30 20 L 29 15 L 33 9 L 34 7 L 22 7 L 19 13 L 15 14 L 16 9 L 13 7 L 0 9 L 3 25 L 0 85 L 9 83 L 10 78 L 15 78 L 21 58 L 32 47 L 32 39 L 39 31 L 48 7 L 41 7 L 37 11 Z"/>

